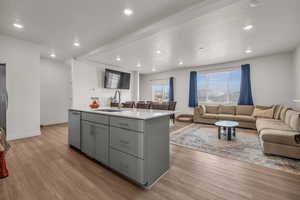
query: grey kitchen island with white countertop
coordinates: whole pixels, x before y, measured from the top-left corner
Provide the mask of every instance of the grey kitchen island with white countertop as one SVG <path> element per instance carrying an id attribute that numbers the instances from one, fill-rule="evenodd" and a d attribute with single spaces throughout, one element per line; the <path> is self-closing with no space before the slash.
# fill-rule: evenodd
<path id="1" fill-rule="evenodd" d="M 69 110 L 69 145 L 142 187 L 170 167 L 174 111 L 78 107 Z"/>

